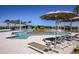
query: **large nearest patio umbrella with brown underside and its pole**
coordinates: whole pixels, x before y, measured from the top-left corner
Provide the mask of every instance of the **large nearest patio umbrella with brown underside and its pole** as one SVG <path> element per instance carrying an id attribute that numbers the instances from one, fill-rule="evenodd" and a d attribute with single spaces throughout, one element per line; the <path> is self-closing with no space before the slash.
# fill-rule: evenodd
<path id="1" fill-rule="evenodd" d="M 50 11 L 41 16 L 42 19 L 45 20 L 55 20 L 56 21 L 56 29 L 58 29 L 58 25 L 60 21 L 68 21 L 70 18 L 75 17 L 76 14 L 70 11 Z M 56 39 L 55 39 L 56 44 Z"/>

